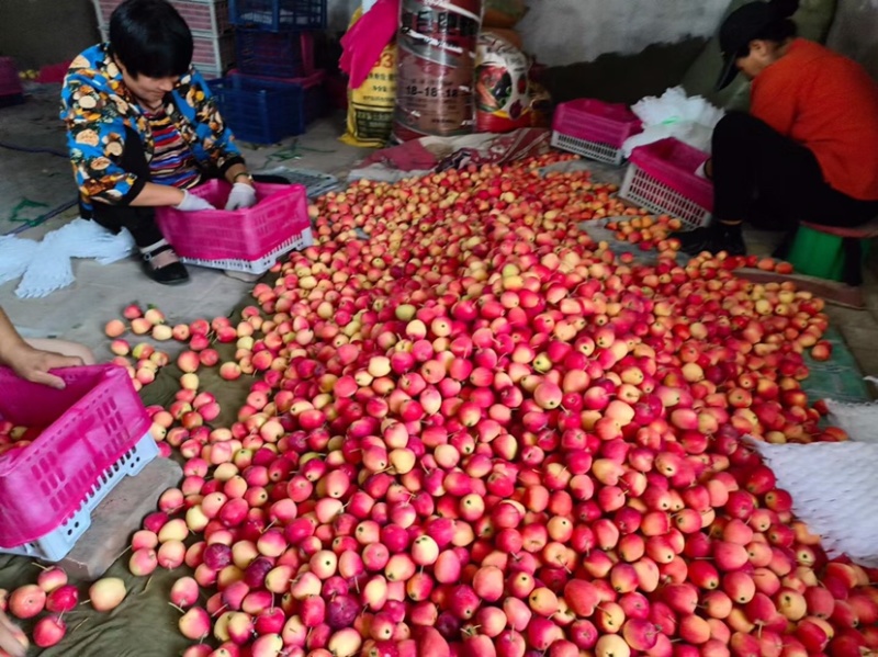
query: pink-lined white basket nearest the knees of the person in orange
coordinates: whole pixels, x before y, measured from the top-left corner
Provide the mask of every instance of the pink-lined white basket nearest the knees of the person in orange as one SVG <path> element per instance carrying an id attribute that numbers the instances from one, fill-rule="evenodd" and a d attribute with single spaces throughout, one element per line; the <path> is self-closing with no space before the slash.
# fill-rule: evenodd
<path id="1" fill-rule="evenodd" d="M 713 211 L 713 183 L 695 174 L 709 158 L 674 138 L 635 148 L 619 196 L 698 228 Z"/>

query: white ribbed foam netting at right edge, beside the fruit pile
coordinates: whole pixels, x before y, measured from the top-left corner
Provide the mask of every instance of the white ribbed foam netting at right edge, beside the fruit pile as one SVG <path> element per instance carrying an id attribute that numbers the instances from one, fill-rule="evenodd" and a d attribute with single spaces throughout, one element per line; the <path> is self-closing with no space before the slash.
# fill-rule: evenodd
<path id="1" fill-rule="evenodd" d="M 792 496 L 792 511 L 831 556 L 878 567 L 878 443 L 750 442 Z"/>

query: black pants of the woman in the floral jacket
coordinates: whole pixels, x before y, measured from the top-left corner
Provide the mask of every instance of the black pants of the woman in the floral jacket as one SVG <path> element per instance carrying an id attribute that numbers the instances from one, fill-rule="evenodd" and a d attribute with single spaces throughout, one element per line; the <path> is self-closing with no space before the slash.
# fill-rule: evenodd
<path id="1" fill-rule="evenodd" d="M 125 148 L 122 151 L 119 165 L 122 169 L 134 173 L 142 180 L 148 181 L 151 179 L 149 163 L 146 161 L 146 152 L 140 143 L 140 137 L 130 127 L 125 128 Z M 222 178 L 222 175 L 217 170 L 202 171 L 202 182 L 212 178 Z M 289 184 L 290 182 L 279 175 L 255 175 L 254 180 L 274 184 Z M 138 248 L 154 245 L 164 237 L 156 224 L 156 211 L 154 207 L 111 205 L 109 203 L 92 203 L 91 207 L 92 212 L 90 217 L 87 218 L 91 218 L 114 235 L 119 234 L 122 228 L 127 228 Z M 85 217 L 87 214 L 89 213 L 83 211 L 82 216 Z"/>

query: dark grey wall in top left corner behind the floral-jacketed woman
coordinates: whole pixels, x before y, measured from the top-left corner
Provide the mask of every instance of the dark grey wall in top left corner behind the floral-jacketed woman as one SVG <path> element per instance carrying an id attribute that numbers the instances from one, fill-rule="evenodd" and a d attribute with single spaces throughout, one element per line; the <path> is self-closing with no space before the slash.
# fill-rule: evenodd
<path id="1" fill-rule="evenodd" d="M 91 0 L 0 0 L 0 55 L 21 69 L 72 59 L 98 39 Z"/>

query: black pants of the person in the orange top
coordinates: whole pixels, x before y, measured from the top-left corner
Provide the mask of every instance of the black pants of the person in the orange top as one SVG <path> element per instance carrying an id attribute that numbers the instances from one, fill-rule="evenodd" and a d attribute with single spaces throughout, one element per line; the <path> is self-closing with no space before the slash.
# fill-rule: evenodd
<path id="1" fill-rule="evenodd" d="M 713 214 L 767 230 L 799 222 L 859 226 L 878 216 L 878 201 L 859 201 L 823 180 L 813 152 L 740 112 L 713 131 Z"/>

